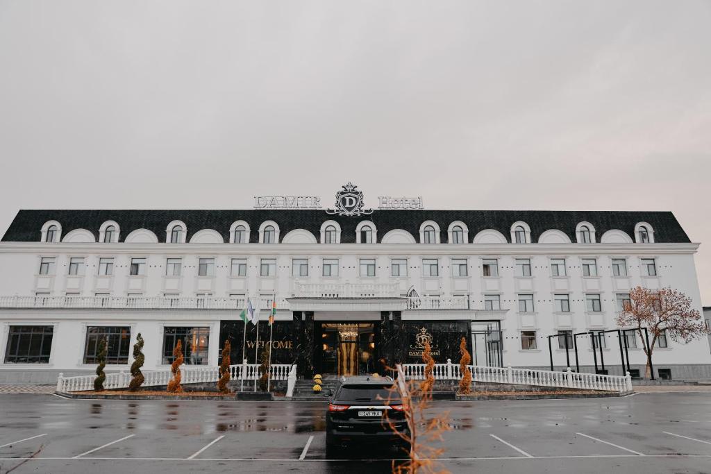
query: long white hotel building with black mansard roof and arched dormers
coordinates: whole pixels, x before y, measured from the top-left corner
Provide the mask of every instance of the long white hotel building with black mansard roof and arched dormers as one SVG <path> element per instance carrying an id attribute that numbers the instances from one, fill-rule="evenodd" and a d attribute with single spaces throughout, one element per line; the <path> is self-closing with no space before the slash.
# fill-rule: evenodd
<path id="1" fill-rule="evenodd" d="M 225 340 L 254 362 L 270 329 L 272 361 L 300 377 L 383 373 L 426 341 L 458 362 L 461 338 L 476 365 L 643 374 L 643 342 L 614 332 L 629 290 L 670 286 L 702 311 L 698 244 L 670 212 L 359 214 L 20 211 L 0 242 L 0 381 L 90 373 L 102 338 L 107 370 L 127 370 L 138 333 L 148 370 L 177 340 L 188 364 L 218 365 Z M 705 338 L 660 343 L 656 377 L 711 378 Z"/>

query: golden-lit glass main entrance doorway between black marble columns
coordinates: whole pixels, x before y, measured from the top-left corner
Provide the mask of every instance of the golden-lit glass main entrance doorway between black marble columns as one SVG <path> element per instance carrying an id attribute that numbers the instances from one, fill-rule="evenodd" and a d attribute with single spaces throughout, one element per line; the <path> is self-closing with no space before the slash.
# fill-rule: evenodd
<path id="1" fill-rule="evenodd" d="M 321 324 L 321 372 L 347 377 L 371 374 L 374 367 L 373 323 Z"/>

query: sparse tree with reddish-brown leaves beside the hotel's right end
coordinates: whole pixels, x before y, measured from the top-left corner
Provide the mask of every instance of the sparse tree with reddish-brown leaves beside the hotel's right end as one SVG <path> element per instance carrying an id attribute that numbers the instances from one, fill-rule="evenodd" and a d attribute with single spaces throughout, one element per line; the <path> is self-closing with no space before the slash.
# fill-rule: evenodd
<path id="1" fill-rule="evenodd" d="M 709 333 L 699 311 L 692 308 L 691 298 L 681 291 L 671 288 L 651 290 L 637 286 L 630 291 L 629 297 L 630 301 L 624 303 L 624 308 L 617 315 L 617 325 L 620 328 L 634 328 L 639 334 L 647 355 L 647 378 L 651 376 L 652 353 L 660 337 L 689 343 Z M 648 347 L 643 335 L 644 328 L 652 338 Z"/>

